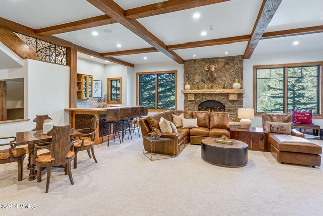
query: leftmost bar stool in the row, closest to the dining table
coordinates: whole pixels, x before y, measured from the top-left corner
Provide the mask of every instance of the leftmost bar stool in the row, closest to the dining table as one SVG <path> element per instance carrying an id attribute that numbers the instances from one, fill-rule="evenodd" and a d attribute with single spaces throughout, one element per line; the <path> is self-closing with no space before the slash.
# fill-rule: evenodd
<path id="1" fill-rule="evenodd" d="M 120 108 L 111 108 L 106 110 L 106 118 L 105 120 L 105 127 L 102 136 L 102 143 L 104 138 L 104 133 L 106 133 L 106 126 L 107 126 L 107 146 L 109 146 L 110 141 L 110 133 L 111 133 L 111 125 L 113 127 L 113 141 L 115 141 L 116 133 L 118 133 L 119 141 L 121 144 L 118 123 L 120 121 Z M 106 136 L 106 135 L 105 135 Z"/>

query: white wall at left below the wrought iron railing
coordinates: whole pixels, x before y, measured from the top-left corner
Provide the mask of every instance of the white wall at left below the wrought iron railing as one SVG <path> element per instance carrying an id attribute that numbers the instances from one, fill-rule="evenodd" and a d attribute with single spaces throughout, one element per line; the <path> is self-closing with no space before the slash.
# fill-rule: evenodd
<path id="1" fill-rule="evenodd" d="M 30 121 L 0 124 L 0 137 L 16 136 L 16 132 L 30 131 L 36 115 L 49 114 L 54 125 L 66 125 L 69 117 L 69 67 L 26 59 L 19 69 L 0 71 L 0 80 L 24 78 L 25 118 Z"/>

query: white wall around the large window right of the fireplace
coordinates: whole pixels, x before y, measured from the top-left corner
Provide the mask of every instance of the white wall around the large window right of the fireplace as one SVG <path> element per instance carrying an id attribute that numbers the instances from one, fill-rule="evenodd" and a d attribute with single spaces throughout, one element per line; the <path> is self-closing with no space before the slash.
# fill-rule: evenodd
<path id="1" fill-rule="evenodd" d="M 244 108 L 253 108 L 253 66 L 270 64 L 289 64 L 302 62 L 323 61 L 323 50 L 302 51 L 294 53 L 278 53 L 267 55 L 253 55 L 243 62 L 243 86 L 246 90 L 243 99 Z M 313 123 L 323 127 L 323 119 L 313 119 Z M 261 117 L 252 119 L 252 126 L 262 127 Z"/>

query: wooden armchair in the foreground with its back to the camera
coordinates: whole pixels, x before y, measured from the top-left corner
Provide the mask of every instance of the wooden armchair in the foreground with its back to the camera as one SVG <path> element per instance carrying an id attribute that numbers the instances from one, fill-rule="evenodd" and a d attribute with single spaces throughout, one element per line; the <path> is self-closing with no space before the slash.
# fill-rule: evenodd
<path id="1" fill-rule="evenodd" d="M 73 129 L 70 127 L 70 125 L 54 126 L 53 129 L 47 134 L 48 136 L 52 136 L 51 143 L 41 146 L 36 145 L 36 150 L 44 148 L 49 151 L 37 155 L 35 159 L 35 164 L 37 165 L 37 182 L 41 182 L 42 167 L 47 168 L 46 193 L 48 193 L 51 167 L 53 166 L 64 165 L 65 175 L 69 175 L 70 182 L 72 185 L 74 185 L 71 171 L 71 161 L 74 159 L 74 151 L 71 151 L 73 144 L 70 140 L 70 134 L 72 132 Z"/>

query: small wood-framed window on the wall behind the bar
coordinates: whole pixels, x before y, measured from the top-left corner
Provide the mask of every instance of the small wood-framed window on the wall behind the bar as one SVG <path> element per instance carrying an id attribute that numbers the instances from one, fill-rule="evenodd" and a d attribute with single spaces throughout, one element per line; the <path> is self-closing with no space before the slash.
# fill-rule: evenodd
<path id="1" fill-rule="evenodd" d="M 122 78 L 108 78 L 107 92 L 111 104 L 121 104 Z"/>

